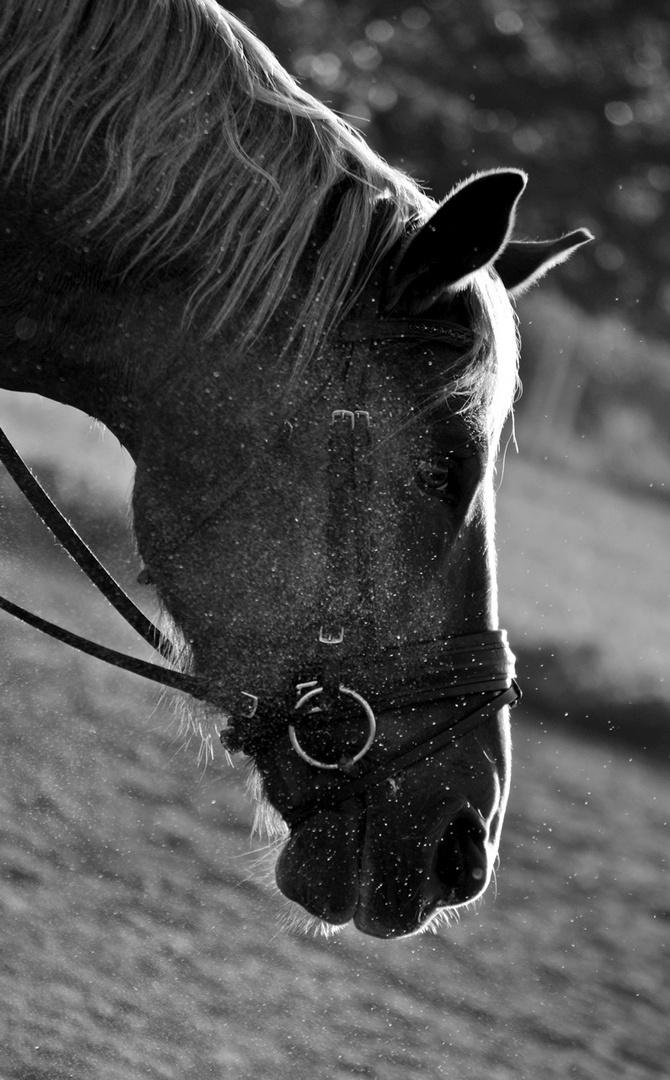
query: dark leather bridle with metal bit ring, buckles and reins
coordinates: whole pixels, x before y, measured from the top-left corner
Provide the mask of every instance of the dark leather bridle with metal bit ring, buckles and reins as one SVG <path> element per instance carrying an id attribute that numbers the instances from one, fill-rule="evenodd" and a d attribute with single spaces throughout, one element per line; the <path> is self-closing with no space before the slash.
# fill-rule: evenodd
<path id="1" fill-rule="evenodd" d="M 417 320 L 367 320 L 348 324 L 340 341 L 361 345 L 399 338 L 426 340 L 427 337 L 439 337 L 455 349 L 463 349 L 471 341 L 471 335 L 464 328 Z M 323 621 L 318 643 L 319 661 L 313 672 L 317 677 L 297 684 L 296 701 L 289 704 L 292 721 L 286 721 L 285 702 L 283 708 L 273 711 L 273 716 L 264 717 L 266 703 L 260 702 L 250 690 L 230 689 L 216 679 L 139 660 L 98 645 L 1 596 L 0 609 L 106 663 L 214 704 L 230 717 L 228 727 L 222 732 L 222 742 L 230 751 L 243 751 L 249 755 L 262 753 L 286 734 L 287 729 L 295 752 L 306 762 L 313 768 L 333 770 L 339 774 L 337 783 L 329 785 L 308 802 L 283 813 L 289 824 L 294 825 L 316 809 L 337 805 L 438 753 L 454 740 L 493 719 L 501 708 L 514 704 L 521 696 L 514 678 L 514 657 L 502 630 L 418 642 L 397 648 L 380 648 L 375 642 L 371 550 L 370 543 L 365 542 L 363 545 L 359 544 L 357 552 L 360 581 L 357 620 L 363 619 L 372 647 L 361 657 L 352 657 L 346 651 L 344 643 L 347 612 L 343 610 L 338 583 L 349 552 L 347 544 L 351 518 L 360 518 L 364 512 L 361 500 L 364 501 L 370 485 L 370 477 L 366 475 L 371 457 L 370 437 L 371 417 L 366 410 L 347 407 L 332 413 L 326 523 L 329 556 L 323 590 Z M 165 661 L 174 663 L 176 658 L 171 642 L 99 563 L 46 495 L 1 429 L 0 461 L 32 509 L 111 606 Z M 343 500 L 347 503 L 346 509 L 343 509 Z M 209 511 L 207 519 L 215 512 L 216 508 Z M 189 535 L 196 528 L 189 528 Z M 358 535 L 360 530 L 356 531 Z M 440 724 L 420 741 L 413 742 L 397 755 L 363 771 L 360 761 L 373 745 L 376 717 L 379 714 L 446 699 L 454 703 L 455 718 Z M 472 706 L 473 699 L 473 707 L 463 705 L 464 701 L 469 701 Z M 304 750 L 296 727 L 299 719 L 324 710 L 327 712 L 335 702 L 338 705 L 341 702 L 354 702 L 360 706 L 367 731 L 362 745 L 354 753 L 343 756 L 338 761 L 323 761 Z M 281 716 L 279 721 L 276 718 L 278 712 Z"/>

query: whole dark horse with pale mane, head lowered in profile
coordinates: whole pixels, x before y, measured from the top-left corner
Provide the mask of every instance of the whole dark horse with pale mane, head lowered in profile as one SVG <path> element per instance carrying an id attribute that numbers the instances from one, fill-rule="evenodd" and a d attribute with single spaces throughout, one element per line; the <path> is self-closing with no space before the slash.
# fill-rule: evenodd
<path id="1" fill-rule="evenodd" d="M 0 103 L 0 383 L 132 455 L 155 666 L 249 757 L 298 908 L 448 919 L 510 785 L 513 297 L 589 233 L 515 239 L 515 168 L 433 201 L 214 0 L 5 0 Z"/>

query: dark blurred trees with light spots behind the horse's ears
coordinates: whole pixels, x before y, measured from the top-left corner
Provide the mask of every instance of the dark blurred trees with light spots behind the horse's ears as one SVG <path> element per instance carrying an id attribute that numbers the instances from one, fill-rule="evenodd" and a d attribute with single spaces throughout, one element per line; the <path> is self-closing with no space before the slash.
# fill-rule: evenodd
<path id="1" fill-rule="evenodd" d="M 562 270 L 566 292 L 670 336 L 667 0 L 228 6 L 438 198 L 473 170 L 526 168 L 520 231 L 597 235 Z"/>

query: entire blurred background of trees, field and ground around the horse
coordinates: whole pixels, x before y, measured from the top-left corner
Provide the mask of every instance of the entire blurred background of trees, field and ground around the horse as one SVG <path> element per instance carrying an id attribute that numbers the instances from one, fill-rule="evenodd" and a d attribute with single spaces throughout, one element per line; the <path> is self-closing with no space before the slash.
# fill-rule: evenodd
<path id="1" fill-rule="evenodd" d="M 597 238 L 518 308 L 498 552 L 525 698 L 498 883 L 437 937 L 290 929 L 244 767 L 205 767 L 169 699 L 2 616 L 0 1077 L 666 1078 L 670 6 L 228 6 L 435 198 L 520 166 L 520 234 Z M 27 395 L 0 422 L 156 613 L 112 436 Z M 0 496 L 3 594 L 143 654 Z"/>

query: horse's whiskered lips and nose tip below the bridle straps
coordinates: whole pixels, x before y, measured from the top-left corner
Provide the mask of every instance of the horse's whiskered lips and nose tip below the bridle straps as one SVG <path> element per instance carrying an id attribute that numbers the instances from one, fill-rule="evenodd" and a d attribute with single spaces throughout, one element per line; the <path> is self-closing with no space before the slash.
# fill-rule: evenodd
<path id="1" fill-rule="evenodd" d="M 403 839 L 398 824 L 392 812 L 372 813 L 354 799 L 316 811 L 280 853 L 281 892 L 330 926 L 352 921 L 375 937 L 417 933 L 440 910 L 481 895 L 491 846 L 483 818 L 465 799 L 445 804 L 421 839 Z"/>

